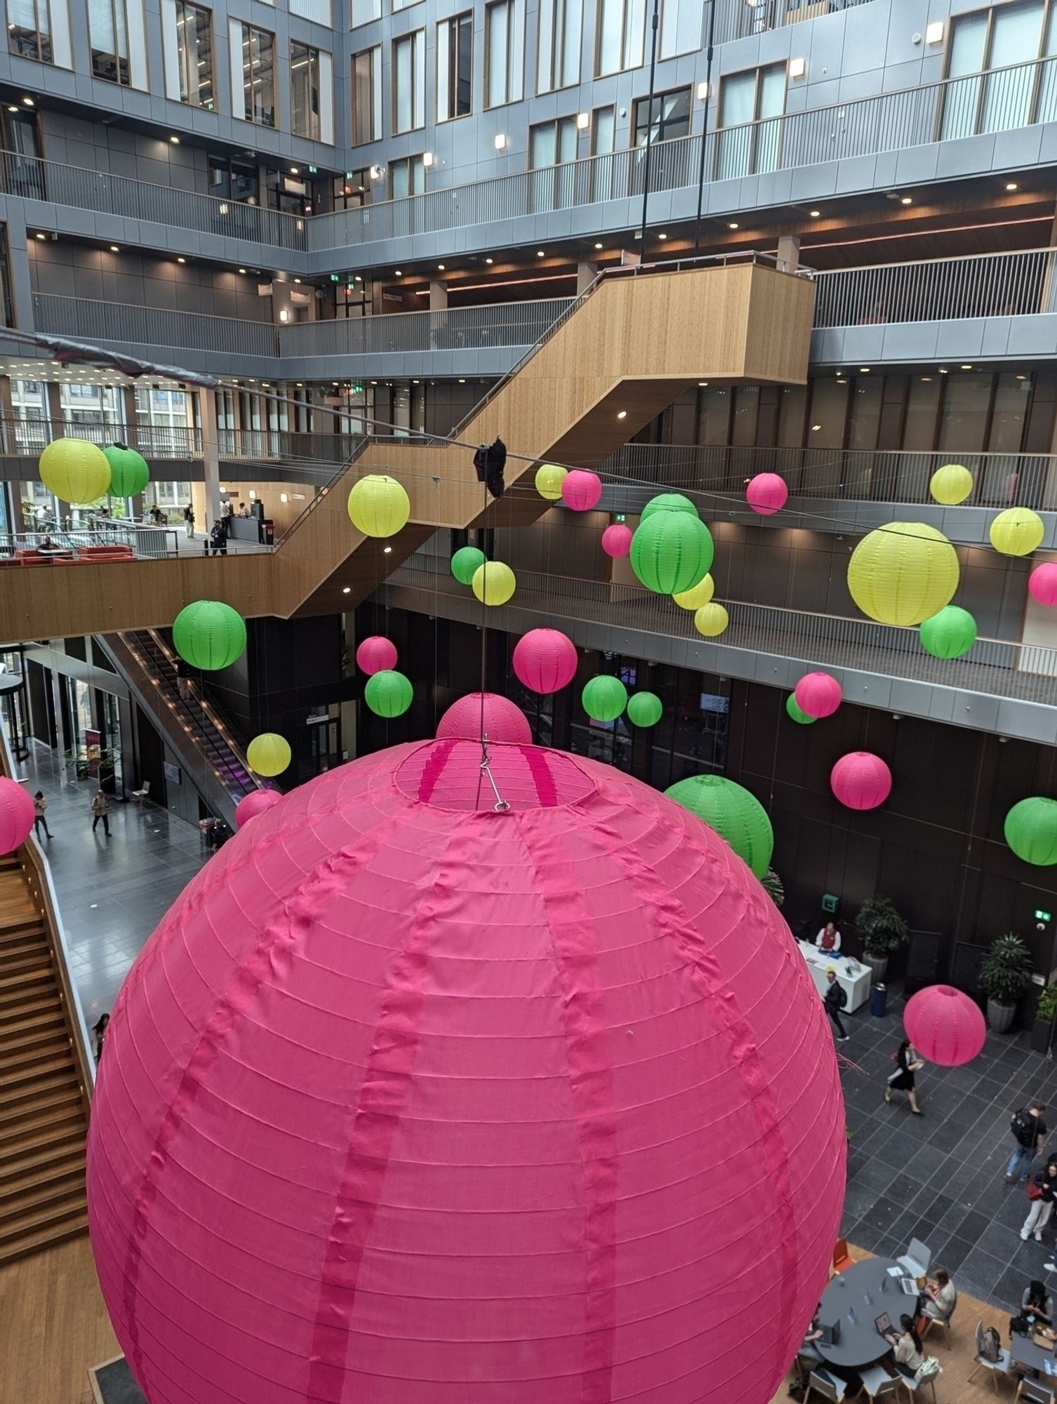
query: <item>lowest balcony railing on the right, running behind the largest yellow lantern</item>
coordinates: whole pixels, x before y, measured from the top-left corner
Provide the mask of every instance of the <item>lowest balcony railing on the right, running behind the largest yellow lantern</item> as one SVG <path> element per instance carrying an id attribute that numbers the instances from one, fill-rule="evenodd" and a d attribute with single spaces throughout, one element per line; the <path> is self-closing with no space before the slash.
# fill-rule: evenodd
<path id="1" fill-rule="evenodd" d="M 547 619 L 576 618 L 700 642 L 693 615 L 665 595 L 636 585 L 518 570 L 510 608 Z M 389 577 L 393 585 L 431 595 L 465 598 L 446 557 L 411 556 Z M 785 609 L 744 601 L 723 601 L 730 626 L 712 642 L 754 654 L 769 653 L 828 667 L 855 668 L 883 677 L 910 678 L 940 687 L 1057 703 L 1057 649 L 1006 639 L 977 639 L 964 658 L 933 658 L 921 647 L 917 629 L 849 619 L 839 615 Z"/>

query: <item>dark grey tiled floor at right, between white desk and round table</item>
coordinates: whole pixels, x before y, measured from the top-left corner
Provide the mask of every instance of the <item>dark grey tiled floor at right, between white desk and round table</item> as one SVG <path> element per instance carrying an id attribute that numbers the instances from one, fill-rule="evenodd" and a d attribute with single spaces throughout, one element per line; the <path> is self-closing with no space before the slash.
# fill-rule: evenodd
<path id="1" fill-rule="evenodd" d="M 926 1064 L 918 1073 L 925 1115 L 912 1116 L 905 1094 L 894 1092 L 890 1106 L 883 1101 L 901 1014 L 900 998 L 883 1019 L 860 1009 L 848 1019 L 851 1040 L 838 1046 L 851 1133 L 842 1233 L 870 1252 L 894 1255 L 921 1238 L 956 1286 L 1012 1309 L 1030 1278 L 1047 1278 L 1054 1224 L 1042 1245 L 1021 1240 L 1029 1202 L 1019 1182 L 1004 1178 L 1013 1148 L 1009 1118 L 1042 1097 L 1057 1129 L 1057 1064 L 1032 1053 L 1026 1033 L 988 1033 L 967 1067 Z M 1050 1150 L 1057 1151 L 1057 1130 L 1036 1167 Z M 1049 1280 L 1057 1286 L 1057 1278 Z"/>

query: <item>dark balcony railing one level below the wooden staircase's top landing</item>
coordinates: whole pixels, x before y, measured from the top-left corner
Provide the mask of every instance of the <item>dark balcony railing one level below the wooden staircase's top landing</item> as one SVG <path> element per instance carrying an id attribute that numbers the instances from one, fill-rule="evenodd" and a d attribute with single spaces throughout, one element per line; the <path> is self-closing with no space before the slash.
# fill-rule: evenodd
<path id="1" fill-rule="evenodd" d="M 1057 510 L 1054 453 L 915 453 L 901 449 L 738 448 L 700 444 L 625 444 L 598 469 L 611 487 L 641 483 L 705 494 L 737 494 L 757 473 L 778 473 L 793 497 L 931 503 L 938 468 L 959 462 L 973 475 L 964 507 Z M 714 504 L 712 504 L 714 507 Z"/>

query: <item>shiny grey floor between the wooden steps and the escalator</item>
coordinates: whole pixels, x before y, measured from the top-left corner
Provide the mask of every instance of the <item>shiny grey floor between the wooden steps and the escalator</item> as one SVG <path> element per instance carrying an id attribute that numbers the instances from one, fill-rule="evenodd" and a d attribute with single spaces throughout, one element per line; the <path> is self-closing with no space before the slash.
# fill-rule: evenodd
<path id="1" fill-rule="evenodd" d="M 67 781 L 39 743 L 17 774 L 48 800 L 42 837 L 70 949 L 70 973 L 88 1024 L 109 1009 L 150 932 L 206 861 L 198 830 L 157 804 L 111 799 L 109 830 L 93 834 L 88 804 L 97 786 Z"/>

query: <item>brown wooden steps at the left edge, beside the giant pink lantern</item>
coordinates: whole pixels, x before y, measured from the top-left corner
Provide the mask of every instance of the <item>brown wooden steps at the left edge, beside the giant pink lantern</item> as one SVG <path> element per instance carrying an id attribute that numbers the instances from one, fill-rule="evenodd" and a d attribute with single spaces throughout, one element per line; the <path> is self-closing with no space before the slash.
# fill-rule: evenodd
<path id="1" fill-rule="evenodd" d="M 84 1080 L 32 878 L 0 858 L 0 1265 L 86 1231 Z"/>

